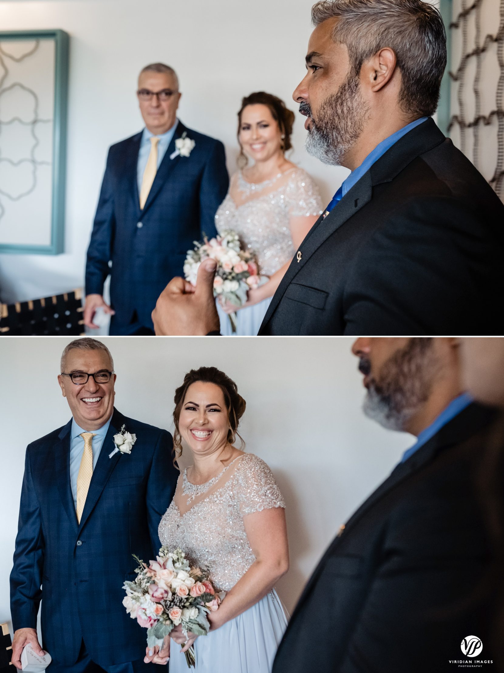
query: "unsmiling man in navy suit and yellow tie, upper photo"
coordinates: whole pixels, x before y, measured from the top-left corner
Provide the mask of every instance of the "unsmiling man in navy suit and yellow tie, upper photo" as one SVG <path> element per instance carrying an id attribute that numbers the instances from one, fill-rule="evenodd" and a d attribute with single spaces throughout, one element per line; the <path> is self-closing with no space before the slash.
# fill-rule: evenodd
<path id="1" fill-rule="evenodd" d="M 184 127 L 176 116 L 180 96 L 168 65 L 141 71 L 137 97 L 145 129 L 108 151 L 87 249 L 87 327 L 98 327 L 93 321 L 101 307 L 112 314 L 110 334 L 153 334 L 157 297 L 182 275 L 187 250 L 204 234 L 217 234 L 214 217 L 229 186 L 224 146 Z M 102 296 L 109 274 L 110 306 Z"/>

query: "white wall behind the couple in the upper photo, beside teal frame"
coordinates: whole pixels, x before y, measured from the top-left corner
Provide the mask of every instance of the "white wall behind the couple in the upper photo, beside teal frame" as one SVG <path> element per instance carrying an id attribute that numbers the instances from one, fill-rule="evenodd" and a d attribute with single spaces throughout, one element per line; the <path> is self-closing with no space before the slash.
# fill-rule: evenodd
<path id="1" fill-rule="evenodd" d="M 0 255 L 1 299 L 82 287 L 107 148 L 143 125 L 135 96 L 143 65 L 164 61 L 178 71 L 180 118 L 225 143 L 231 172 L 242 96 L 265 90 L 297 111 L 291 95 L 305 73 L 311 6 L 311 0 L 0 1 L 1 30 L 62 28 L 71 36 L 65 254 Z M 291 158 L 328 202 L 348 171 L 305 153 L 303 121 L 297 113 Z"/>

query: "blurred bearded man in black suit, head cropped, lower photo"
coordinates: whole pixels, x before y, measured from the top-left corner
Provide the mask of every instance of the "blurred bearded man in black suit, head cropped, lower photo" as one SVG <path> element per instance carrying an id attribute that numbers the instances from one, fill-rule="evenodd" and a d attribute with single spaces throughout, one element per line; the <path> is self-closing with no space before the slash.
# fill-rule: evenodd
<path id="1" fill-rule="evenodd" d="M 464 394 L 458 351 L 449 338 L 355 342 L 365 413 L 417 441 L 341 526 L 273 673 L 444 673 L 496 658 L 493 540 L 479 481 L 495 411 Z"/>

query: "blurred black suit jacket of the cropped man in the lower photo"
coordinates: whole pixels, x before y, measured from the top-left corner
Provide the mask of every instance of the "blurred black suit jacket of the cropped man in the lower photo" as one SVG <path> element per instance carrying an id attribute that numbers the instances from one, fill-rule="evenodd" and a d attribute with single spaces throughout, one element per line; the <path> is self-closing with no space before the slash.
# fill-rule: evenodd
<path id="1" fill-rule="evenodd" d="M 495 659 L 477 487 L 493 417 L 468 406 L 357 509 L 308 581 L 273 673 L 444 673 L 469 635 L 482 639 L 476 659 Z"/>

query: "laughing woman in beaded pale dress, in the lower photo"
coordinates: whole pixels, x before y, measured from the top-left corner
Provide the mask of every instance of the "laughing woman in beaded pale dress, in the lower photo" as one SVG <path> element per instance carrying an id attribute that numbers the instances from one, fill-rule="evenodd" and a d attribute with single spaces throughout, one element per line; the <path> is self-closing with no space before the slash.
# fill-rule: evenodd
<path id="1" fill-rule="evenodd" d="M 186 672 L 191 645 L 196 673 L 269 673 L 287 626 L 275 583 L 289 567 L 285 503 L 266 463 L 234 446 L 245 400 L 215 367 L 192 369 L 175 392 L 174 445 L 182 438 L 194 464 L 178 478 L 159 538 L 181 548 L 190 565 L 205 569 L 221 604 L 208 615 L 207 636 L 180 626 L 145 661 Z M 175 644 L 177 643 L 177 644 Z M 177 646 L 178 645 L 178 646 Z"/>

